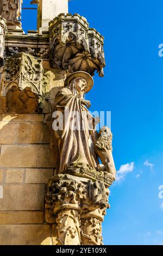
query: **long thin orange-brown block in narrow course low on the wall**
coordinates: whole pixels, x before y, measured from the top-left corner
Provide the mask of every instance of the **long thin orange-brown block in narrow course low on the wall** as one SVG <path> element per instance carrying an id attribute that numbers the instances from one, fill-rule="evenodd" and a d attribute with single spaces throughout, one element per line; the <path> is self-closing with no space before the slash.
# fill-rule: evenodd
<path id="1" fill-rule="evenodd" d="M 43 211 L 0 211 L 0 224 L 42 224 Z M 0 228 L 1 229 L 1 228 Z"/>

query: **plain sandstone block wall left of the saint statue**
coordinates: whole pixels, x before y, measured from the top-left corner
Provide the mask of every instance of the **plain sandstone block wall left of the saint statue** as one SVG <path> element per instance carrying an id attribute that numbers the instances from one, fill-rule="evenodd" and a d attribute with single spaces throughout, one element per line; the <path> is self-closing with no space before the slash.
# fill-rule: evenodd
<path id="1" fill-rule="evenodd" d="M 45 184 L 54 150 L 43 114 L 0 114 L 0 245 L 52 245 Z"/>

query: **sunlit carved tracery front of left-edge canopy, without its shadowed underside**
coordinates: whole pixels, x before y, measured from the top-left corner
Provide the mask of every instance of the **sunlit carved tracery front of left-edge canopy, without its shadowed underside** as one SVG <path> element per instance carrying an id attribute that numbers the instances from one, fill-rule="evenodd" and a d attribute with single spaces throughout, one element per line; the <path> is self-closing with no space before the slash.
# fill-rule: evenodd
<path id="1" fill-rule="evenodd" d="M 6 96 L 14 87 L 20 90 L 31 88 L 32 92 L 42 94 L 42 60 L 26 53 L 14 54 L 5 60 L 1 95 Z"/>

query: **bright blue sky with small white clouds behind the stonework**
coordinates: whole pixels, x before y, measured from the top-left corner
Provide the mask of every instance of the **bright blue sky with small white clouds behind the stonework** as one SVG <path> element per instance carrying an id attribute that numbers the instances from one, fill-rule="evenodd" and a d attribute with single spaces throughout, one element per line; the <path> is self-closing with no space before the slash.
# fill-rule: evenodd
<path id="1" fill-rule="evenodd" d="M 27 7 L 30 1 L 23 2 Z M 110 187 L 104 243 L 163 244 L 163 199 L 158 197 L 163 185 L 163 57 L 158 56 L 163 2 L 73 0 L 69 12 L 86 17 L 105 38 L 105 76 L 96 74 L 87 94 L 92 111 L 111 111 L 120 170 L 120 180 Z M 22 20 L 24 31 L 36 29 L 36 11 L 23 10 Z"/>

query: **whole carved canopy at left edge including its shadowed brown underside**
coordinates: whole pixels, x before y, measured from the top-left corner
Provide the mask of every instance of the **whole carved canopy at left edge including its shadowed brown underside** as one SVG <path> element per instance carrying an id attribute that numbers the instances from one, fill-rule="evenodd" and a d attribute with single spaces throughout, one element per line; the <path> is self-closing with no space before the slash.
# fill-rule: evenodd
<path id="1" fill-rule="evenodd" d="M 42 95 L 42 60 L 17 53 L 5 60 L 0 96 L 5 99 L 3 111 L 33 113 L 38 111 Z"/>

